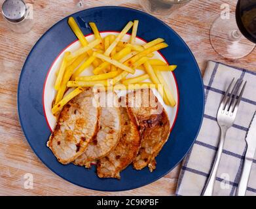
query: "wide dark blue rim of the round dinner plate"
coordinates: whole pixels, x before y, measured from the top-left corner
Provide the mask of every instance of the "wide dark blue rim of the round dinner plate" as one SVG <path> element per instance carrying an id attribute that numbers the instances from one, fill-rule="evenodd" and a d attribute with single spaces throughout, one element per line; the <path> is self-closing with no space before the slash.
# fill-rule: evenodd
<path id="1" fill-rule="evenodd" d="M 58 163 L 46 141 L 50 129 L 43 110 L 43 86 L 48 69 L 56 57 L 76 40 L 67 24 L 60 20 L 41 37 L 27 56 L 18 85 L 18 113 L 27 141 L 45 165 L 65 180 L 101 191 L 134 189 L 161 178 L 183 159 L 191 148 L 202 122 L 204 112 L 204 89 L 198 65 L 185 42 L 168 25 L 155 17 L 124 7 L 96 7 L 72 14 L 77 22 L 96 22 L 100 31 L 121 31 L 130 20 L 139 20 L 138 37 L 147 41 L 162 37 L 170 47 L 161 50 L 168 61 L 178 65 L 174 72 L 179 88 L 179 112 L 170 139 L 158 157 L 154 172 L 149 169 L 137 171 L 129 166 L 121 173 L 121 180 L 100 179 L 95 168 L 84 169 L 73 164 Z M 81 24 L 84 35 L 92 33 Z"/>

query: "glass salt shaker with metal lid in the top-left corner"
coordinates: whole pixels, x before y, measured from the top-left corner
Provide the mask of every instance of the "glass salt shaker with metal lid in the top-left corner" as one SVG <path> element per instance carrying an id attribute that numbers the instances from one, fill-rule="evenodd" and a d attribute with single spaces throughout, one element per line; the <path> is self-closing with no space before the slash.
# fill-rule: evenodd
<path id="1" fill-rule="evenodd" d="M 16 33 L 27 33 L 33 26 L 33 11 L 22 0 L 6 0 L 2 5 L 3 19 Z"/>

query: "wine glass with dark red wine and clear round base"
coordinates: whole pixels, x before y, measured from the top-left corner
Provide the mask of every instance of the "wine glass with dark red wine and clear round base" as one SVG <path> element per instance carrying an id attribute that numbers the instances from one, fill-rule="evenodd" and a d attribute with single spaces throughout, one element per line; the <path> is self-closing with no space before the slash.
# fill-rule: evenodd
<path id="1" fill-rule="evenodd" d="M 256 0 L 238 0 L 236 15 L 217 18 L 211 26 L 210 40 L 214 50 L 227 59 L 250 54 L 256 43 Z"/>

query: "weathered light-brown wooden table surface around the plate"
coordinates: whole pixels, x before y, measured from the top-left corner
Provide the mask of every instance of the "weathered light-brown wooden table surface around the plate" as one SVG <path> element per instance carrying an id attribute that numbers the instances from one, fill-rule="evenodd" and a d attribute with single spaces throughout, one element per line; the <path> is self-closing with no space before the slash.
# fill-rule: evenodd
<path id="1" fill-rule="evenodd" d="M 82 7 L 77 6 L 79 0 L 26 2 L 33 4 L 34 12 L 34 26 L 29 33 L 10 31 L 0 15 L 0 195 L 174 195 L 180 166 L 153 184 L 123 192 L 92 191 L 66 182 L 33 153 L 18 121 L 16 95 L 20 71 L 32 46 L 48 28 L 84 8 L 120 5 L 141 10 L 138 1 L 86 0 Z M 2 3 L 0 0 L 0 5 Z M 192 0 L 164 22 L 187 42 L 202 74 L 210 59 L 256 71 L 256 50 L 243 59 L 229 61 L 218 56 L 211 47 L 211 23 L 219 16 L 223 3 L 229 3 L 234 11 L 234 0 Z M 33 174 L 33 189 L 24 187 L 27 173 Z"/>

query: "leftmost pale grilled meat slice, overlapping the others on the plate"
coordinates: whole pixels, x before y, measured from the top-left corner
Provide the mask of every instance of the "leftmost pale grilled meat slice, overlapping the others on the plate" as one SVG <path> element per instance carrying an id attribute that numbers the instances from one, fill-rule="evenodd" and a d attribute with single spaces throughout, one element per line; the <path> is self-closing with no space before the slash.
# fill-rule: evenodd
<path id="1" fill-rule="evenodd" d="M 98 132 L 100 108 L 87 88 L 64 106 L 47 146 L 58 161 L 73 162 Z"/>

